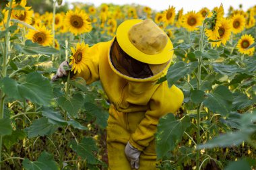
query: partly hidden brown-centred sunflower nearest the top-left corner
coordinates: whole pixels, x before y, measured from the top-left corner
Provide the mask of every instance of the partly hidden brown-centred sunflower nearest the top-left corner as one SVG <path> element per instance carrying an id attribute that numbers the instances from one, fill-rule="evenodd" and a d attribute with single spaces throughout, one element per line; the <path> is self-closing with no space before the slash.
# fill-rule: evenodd
<path id="1" fill-rule="evenodd" d="M 32 22 L 32 15 L 33 15 L 33 11 L 30 11 L 31 7 L 24 7 L 25 10 L 13 10 L 11 11 L 11 17 L 13 19 L 18 19 L 22 22 L 26 22 L 27 24 L 31 24 Z M 23 11 L 23 14 L 19 11 Z M 18 14 L 20 13 L 20 14 Z"/>

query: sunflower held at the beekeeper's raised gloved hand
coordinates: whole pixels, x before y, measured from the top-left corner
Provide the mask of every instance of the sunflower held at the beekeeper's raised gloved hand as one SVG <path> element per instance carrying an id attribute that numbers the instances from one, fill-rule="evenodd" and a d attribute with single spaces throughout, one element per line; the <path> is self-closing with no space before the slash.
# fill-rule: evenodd
<path id="1" fill-rule="evenodd" d="M 86 67 L 86 56 L 88 56 L 88 44 L 84 44 L 84 42 L 77 43 L 76 48 L 71 47 L 72 56 L 70 57 L 71 62 L 69 65 L 72 65 L 71 71 L 74 73 L 84 70 Z"/>

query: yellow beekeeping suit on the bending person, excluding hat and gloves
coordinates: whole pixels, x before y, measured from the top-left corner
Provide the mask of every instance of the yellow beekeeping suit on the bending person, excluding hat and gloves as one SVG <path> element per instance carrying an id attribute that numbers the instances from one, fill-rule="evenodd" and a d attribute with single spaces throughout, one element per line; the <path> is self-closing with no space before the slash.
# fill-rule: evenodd
<path id="1" fill-rule="evenodd" d="M 142 151 L 139 169 L 156 169 L 154 134 L 158 120 L 179 109 L 183 93 L 174 85 L 169 88 L 166 81 L 156 84 L 170 63 L 146 79 L 131 78 L 117 71 L 109 55 L 112 43 L 113 40 L 92 46 L 86 58 L 87 67 L 75 77 L 83 77 L 88 84 L 100 79 L 111 102 L 107 126 L 109 169 L 131 169 L 125 157 L 128 141 Z"/>

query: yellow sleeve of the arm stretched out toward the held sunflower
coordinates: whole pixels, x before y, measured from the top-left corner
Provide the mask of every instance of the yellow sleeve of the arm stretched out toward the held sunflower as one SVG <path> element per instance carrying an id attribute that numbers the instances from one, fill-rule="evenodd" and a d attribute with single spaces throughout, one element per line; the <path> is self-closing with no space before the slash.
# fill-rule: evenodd
<path id="1" fill-rule="evenodd" d="M 106 48 L 106 46 L 102 46 L 106 42 L 100 42 L 98 44 L 95 44 L 94 46 L 91 46 L 88 49 L 88 56 L 86 56 L 86 67 L 84 68 L 81 73 L 76 73 L 73 78 L 76 77 L 82 77 L 86 80 L 87 84 L 93 83 L 94 81 L 98 81 L 99 79 L 99 60 L 100 57 L 102 57 L 102 51 Z M 105 54 L 106 55 L 106 54 Z"/>

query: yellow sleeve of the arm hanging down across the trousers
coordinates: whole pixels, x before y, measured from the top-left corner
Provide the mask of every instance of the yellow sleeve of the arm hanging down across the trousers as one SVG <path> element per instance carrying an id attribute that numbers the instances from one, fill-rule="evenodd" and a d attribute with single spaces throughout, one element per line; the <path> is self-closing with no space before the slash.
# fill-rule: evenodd
<path id="1" fill-rule="evenodd" d="M 150 109 L 146 112 L 145 118 L 141 120 L 135 132 L 131 134 L 129 142 L 140 151 L 143 151 L 152 140 L 156 133 L 158 120 L 168 114 L 175 113 L 183 102 L 183 92 L 172 85 L 168 88 L 167 83 L 162 83 L 150 99 Z"/>

